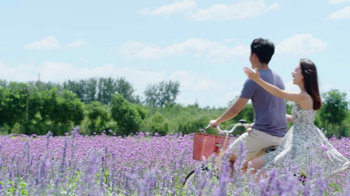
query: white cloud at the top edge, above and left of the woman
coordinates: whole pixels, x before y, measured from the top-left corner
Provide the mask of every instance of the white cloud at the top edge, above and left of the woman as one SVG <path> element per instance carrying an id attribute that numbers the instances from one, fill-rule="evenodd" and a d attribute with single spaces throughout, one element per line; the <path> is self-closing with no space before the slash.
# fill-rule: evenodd
<path id="1" fill-rule="evenodd" d="M 190 18 L 195 21 L 237 20 L 259 16 L 278 7 L 277 3 L 267 6 L 263 0 L 240 1 L 231 5 L 215 4 L 208 9 L 200 9 Z"/>

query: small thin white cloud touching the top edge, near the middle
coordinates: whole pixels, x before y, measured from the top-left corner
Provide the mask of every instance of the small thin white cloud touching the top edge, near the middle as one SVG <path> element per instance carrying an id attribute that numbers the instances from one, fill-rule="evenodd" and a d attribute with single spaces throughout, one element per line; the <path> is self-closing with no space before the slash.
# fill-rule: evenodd
<path id="1" fill-rule="evenodd" d="M 155 9 L 142 9 L 138 11 L 140 14 L 144 15 L 171 15 L 177 13 L 188 12 L 196 7 L 196 3 L 190 0 L 184 0 L 182 2 L 175 2 L 170 5 L 164 5 Z"/>

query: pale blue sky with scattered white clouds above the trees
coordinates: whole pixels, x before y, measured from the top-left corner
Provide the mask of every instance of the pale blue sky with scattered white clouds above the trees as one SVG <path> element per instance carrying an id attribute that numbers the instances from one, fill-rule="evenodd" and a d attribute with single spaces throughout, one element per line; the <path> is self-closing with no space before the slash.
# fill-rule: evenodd
<path id="1" fill-rule="evenodd" d="M 322 92 L 350 97 L 350 0 L 2 1 L 0 25 L 1 79 L 125 77 L 140 95 L 178 80 L 177 102 L 227 106 L 263 37 L 287 90 L 298 91 L 291 72 L 310 58 Z"/>

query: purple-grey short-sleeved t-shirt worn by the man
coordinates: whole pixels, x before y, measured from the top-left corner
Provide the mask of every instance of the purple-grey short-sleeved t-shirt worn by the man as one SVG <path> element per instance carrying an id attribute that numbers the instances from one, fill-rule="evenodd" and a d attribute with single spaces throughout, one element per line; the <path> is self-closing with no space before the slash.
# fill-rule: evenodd
<path id="1" fill-rule="evenodd" d="M 285 85 L 271 69 L 259 70 L 260 78 L 279 89 Z M 253 128 L 270 135 L 283 137 L 287 133 L 286 103 L 267 92 L 250 78 L 244 83 L 240 97 L 251 99 L 254 107 Z"/>

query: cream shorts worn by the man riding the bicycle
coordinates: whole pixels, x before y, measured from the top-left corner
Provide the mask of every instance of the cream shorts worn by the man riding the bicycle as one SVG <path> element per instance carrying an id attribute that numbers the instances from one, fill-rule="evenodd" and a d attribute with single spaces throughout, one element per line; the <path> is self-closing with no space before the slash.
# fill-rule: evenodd
<path id="1" fill-rule="evenodd" d="M 240 135 L 228 148 L 236 157 L 238 157 L 239 144 L 245 142 L 247 151 L 247 160 L 254 158 L 254 156 L 271 145 L 278 145 L 283 137 L 277 137 L 268 133 L 252 129 L 252 132 L 247 132 Z"/>

